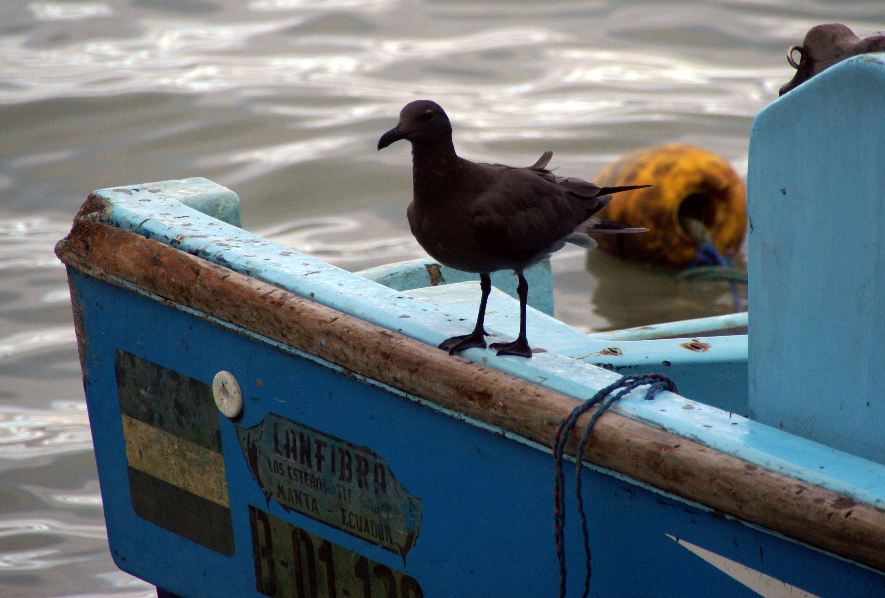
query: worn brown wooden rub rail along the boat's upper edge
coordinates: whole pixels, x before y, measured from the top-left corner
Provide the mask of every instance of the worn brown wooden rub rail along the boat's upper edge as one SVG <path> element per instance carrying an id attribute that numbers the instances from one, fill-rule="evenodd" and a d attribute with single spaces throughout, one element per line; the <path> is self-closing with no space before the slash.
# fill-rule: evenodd
<path id="1" fill-rule="evenodd" d="M 99 221 L 83 206 L 58 257 L 89 276 L 155 293 L 550 447 L 578 400 L 343 314 Z M 74 299 L 75 320 L 76 301 Z M 82 327 L 77 326 L 81 359 Z M 589 414 L 579 420 L 573 454 Z M 600 418 L 585 460 L 835 555 L 885 571 L 885 510 L 622 415 Z"/>

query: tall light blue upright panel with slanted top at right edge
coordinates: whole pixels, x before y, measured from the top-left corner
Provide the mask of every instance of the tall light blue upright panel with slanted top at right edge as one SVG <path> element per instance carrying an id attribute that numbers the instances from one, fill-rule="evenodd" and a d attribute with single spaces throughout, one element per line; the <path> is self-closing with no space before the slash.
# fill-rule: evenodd
<path id="1" fill-rule="evenodd" d="M 885 462 L 885 54 L 759 113 L 747 189 L 750 414 Z"/>

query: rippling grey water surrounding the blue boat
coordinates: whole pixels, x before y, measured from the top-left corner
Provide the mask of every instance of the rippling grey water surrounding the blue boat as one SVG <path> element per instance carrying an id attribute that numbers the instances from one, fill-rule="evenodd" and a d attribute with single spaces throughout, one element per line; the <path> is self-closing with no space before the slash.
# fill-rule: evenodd
<path id="1" fill-rule="evenodd" d="M 405 222 L 402 105 L 439 102 L 468 159 L 555 152 L 592 179 L 686 143 L 743 175 L 786 49 L 885 4 L 805 0 L 0 0 L 0 594 L 154 595 L 108 554 L 65 272 L 52 247 L 90 190 L 201 175 L 247 229 L 351 270 L 422 255 Z M 727 286 L 581 250 L 553 260 L 581 330 L 731 310 Z M 745 296 L 745 295 L 744 295 Z"/>

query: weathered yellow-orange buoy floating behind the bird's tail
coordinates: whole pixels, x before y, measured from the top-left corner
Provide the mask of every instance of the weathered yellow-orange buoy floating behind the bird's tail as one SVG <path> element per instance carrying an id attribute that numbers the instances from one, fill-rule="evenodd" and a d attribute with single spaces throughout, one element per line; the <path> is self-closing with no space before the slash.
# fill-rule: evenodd
<path id="1" fill-rule="evenodd" d="M 691 145 L 632 151 L 596 176 L 600 187 L 653 185 L 612 197 L 600 218 L 649 229 L 636 235 L 594 235 L 599 249 L 625 260 L 684 268 L 695 258 L 700 221 L 723 255 L 736 252 L 747 229 L 747 191 L 734 168 Z"/>

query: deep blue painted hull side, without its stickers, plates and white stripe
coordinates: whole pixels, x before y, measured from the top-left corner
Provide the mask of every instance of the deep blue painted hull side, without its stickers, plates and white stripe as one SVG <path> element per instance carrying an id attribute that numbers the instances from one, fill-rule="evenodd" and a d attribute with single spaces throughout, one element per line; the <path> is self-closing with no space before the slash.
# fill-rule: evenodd
<path id="1" fill-rule="evenodd" d="M 109 541 L 121 569 L 186 598 L 259 596 L 248 521 L 253 505 L 407 572 L 428 597 L 555 591 L 549 454 L 186 311 L 77 272 L 71 275 L 88 340 L 84 381 Z M 219 417 L 235 529 L 232 557 L 135 516 L 114 377 L 116 349 L 207 384 L 219 369 L 240 381 L 242 420 Z M 650 403 L 664 407 L 674 399 L 678 397 L 670 395 Z M 423 501 L 419 539 L 405 563 L 265 501 L 242 456 L 235 426 L 254 425 L 268 412 L 366 445 L 388 462 L 396 478 Z M 572 467 L 566 463 L 566 480 L 573 479 Z M 594 555 L 591 595 L 758 596 L 667 534 L 821 598 L 880 596 L 885 591 L 879 573 L 595 470 L 585 469 L 582 475 Z M 566 492 L 569 586 L 570 595 L 576 595 L 582 555 L 571 484 Z"/>

